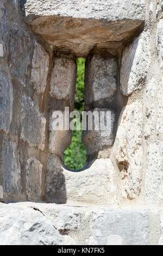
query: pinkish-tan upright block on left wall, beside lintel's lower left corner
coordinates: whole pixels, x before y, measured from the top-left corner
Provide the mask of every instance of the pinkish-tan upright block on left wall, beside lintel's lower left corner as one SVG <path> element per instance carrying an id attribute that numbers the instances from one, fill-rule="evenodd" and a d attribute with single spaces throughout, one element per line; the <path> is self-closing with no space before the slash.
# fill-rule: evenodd
<path id="1" fill-rule="evenodd" d="M 49 56 L 43 47 L 34 41 L 34 54 L 32 59 L 31 81 L 37 94 L 44 93 L 47 84 Z"/>

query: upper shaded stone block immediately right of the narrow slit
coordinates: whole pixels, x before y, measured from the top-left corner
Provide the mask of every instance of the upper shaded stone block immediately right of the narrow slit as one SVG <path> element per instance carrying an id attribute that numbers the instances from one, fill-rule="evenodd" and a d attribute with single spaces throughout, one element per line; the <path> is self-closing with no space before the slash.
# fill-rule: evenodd
<path id="1" fill-rule="evenodd" d="M 117 89 L 117 63 L 114 58 L 93 55 L 86 63 L 85 105 L 108 107 Z"/>

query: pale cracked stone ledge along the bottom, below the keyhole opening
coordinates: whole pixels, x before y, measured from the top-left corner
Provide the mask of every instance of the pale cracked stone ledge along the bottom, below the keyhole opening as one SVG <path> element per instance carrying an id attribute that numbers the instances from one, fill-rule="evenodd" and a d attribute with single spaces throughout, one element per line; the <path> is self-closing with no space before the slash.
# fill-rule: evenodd
<path id="1" fill-rule="evenodd" d="M 1 203 L 0 244 L 148 245 L 148 218 L 143 209 Z"/>

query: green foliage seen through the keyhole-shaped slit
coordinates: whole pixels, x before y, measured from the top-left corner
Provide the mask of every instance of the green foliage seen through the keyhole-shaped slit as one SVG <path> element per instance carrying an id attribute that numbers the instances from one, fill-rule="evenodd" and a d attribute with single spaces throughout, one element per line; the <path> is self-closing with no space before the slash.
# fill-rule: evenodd
<path id="1" fill-rule="evenodd" d="M 74 111 L 79 111 L 82 117 L 84 111 L 84 72 L 85 59 L 78 58 L 78 74 L 76 84 L 76 95 L 74 102 Z M 72 131 L 72 143 L 70 147 L 65 150 L 64 163 L 68 169 L 78 170 L 85 166 L 86 163 L 86 149 L 82 144 L 82 124 L 80 131 Z"/>

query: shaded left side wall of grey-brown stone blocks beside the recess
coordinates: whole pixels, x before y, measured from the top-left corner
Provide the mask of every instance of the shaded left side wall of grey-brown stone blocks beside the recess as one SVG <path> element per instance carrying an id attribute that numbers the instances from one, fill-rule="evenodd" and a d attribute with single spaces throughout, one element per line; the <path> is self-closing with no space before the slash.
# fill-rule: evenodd
<path id="1" fill-rule="evenodd" d="M 23 21 L 18 1 L 0 3 L 3 200 L 42 200 L 46 169 L 48 46 Z M 42 160 L 43 161 L 42 161 Z"/>

